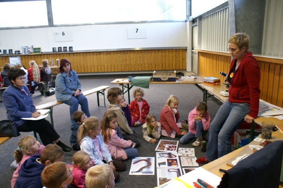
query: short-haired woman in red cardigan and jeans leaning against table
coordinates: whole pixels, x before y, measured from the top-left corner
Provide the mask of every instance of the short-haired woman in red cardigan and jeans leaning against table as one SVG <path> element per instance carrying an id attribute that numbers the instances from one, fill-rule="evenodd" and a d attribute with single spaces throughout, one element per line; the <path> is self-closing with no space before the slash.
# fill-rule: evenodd
<path id="1" fill-rule="evenodd" d="M 227 80 L 229 99 L 220 106 L 210 124 L 208 149 L 197 163 L 211 162 L 231 152 L 231 135 L 243 121 L 251 123 L 258 115 L 260 71 L 252 52 L 250 39 L 245 33 L 230 37 L 229 48 L 233 60 Z"/>

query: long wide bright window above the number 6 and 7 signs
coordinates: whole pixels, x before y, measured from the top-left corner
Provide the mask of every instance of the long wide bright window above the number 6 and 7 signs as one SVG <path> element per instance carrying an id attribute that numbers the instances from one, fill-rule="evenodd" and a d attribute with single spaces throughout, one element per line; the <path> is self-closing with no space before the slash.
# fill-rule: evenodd
<path id="1" fill-rule="evenodd" d="M 54 25 L 185 21 L 186 0 L 51 0 Z"/>

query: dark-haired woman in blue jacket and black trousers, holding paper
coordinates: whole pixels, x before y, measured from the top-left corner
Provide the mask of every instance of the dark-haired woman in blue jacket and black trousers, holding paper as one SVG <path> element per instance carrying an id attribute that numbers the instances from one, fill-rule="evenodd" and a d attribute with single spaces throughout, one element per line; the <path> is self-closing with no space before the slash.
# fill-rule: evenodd
<path id="1" fill-rule="evenodd" d="M 15 122 L 19 132 L 36 131 L 43 145 L 53 144 L 55 142 L 63 151 L 72 150 L 69 146 L 62 143 L 60 136 L 54 130 L 49 121 L 40 120 L 24 120 L 23 117 L 39 117 L 40 113 L 36 111 L 29 89 L 25 86 L 25 71 L 21 69 L 10 69 L 8 71 L 8 79 L 11 85 L 4 91 L 2 95 L 3 104 L 7 110 L 7 118 Z"/>

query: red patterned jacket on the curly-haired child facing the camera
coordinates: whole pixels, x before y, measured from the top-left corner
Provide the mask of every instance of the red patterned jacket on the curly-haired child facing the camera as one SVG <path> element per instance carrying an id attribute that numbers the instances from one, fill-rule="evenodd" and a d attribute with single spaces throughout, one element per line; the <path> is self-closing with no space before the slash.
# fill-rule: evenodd
<path id="1" fill-rule="evenodd" d="M 136 102 L 136 99 L 131 102 L 129 109 L 132 115 L 132 118 L 135 120 L 140 119 L 140 110 L 139 105 Z M 142 99 L 142 123 L 146 122 L 146 117 L 149 113 L 149 105 L 146 100 Z"/>

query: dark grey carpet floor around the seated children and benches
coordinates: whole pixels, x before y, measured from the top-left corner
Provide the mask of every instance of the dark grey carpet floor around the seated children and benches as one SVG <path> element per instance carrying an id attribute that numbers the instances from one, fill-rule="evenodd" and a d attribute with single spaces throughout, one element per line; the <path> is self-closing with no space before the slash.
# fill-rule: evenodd
<path id="1" fill-rule="evenodd" d="M 109 85 L 111 87 L 120 87 L 118 84 L 110 84 L 115 78 L 119 77 L 100 77 L 100 78 L 80 78 L 82 84 L 82 90 L 89 90 L 101 85 Z M 133 87 L 135 88 L 135 86 Z M 133 100 L 132 91 L 130 90 L 130 100 Z M 145 96 L 143 97 L 147 100 L 150 105 L 150 113 L 154 114 L 159 119 L 159 113 L 164 107 L 164 104 L 171 94 L 175 94 L 179 97 L 180 103 L 178 106 L 178 111 L 180 112 L 180 120 L 187 120 L 189 112 L 197 105 L 198 102 L 203 101 L 203 93 L 194 84 L 150 84 L 149 89 L 144 89 Z M 107 95 L 107 90 L 105 92 Z M 36 91 L 32 96 L 34 105 L 44 104 L 55 99 L 55 95 L 44 97 L 40 95 L 39 91 Z M 106 107 L 97 106 L 97 95 L 91 94 L 87 96 L 89 103 L 89 110 L 91 116 L 96 116 L 102 119 L 103 113 L 107 111 L 108 101 L 106 99 Z M 125 94 L 125 99 L 128 102 L 128 96 Z M 100 96 L 100 105 L 102 105 L 103 96 Z M 219 105 L 214 101 L 208 101 L 208 112 L 211 119 L 214 118 Z M 80 110 L 80 107 L 79 107 Z M 6 110 L 3 103 L 0 103 L 0 119 L 7 119 Z M 50 116 L 47 117 L 50 121 Z M 70 130 L 70 117 L 69 117 L 69 106 L 61 104 L 53 108 L 53 120 L 54 127 L 58 134 L 61 136 L 60 140 L 69 145 Z M 141 126 L 136 128 L 136 133 L 139 140 L 141 141 L 141 147 L 138 148 L 139 157 L 155 157 L 156 144 L 151 144 L 143 140 L 142 138 L 142 128 Z M 10 167 L 10 163 L 14 161 L 13 152 L 17 148 L 18 140 L 30 133 L 21 133 L 19 137 L 12 138 L 0 145 L 0 186 L 3 188 L 8 188 L 11 186 L 10 181 L 14 172 L 14 168 Z M 164 140 L 178 140 L 171 139 L 168 137 L 161 137 Z M 192 148 L 191 143 L 187 145 L 179 144 L 178 147 Z M 72 156 L 75 151 L 65 153 L 65 162 L 72 163 Z M 200 151 L 200 147 L 195 148 L 196 157 L 202 157 L 205 153 Z M 131 160 L 126 161 L 127 170 L 125 172 L 120 172 L 120 180 L 116 183 L 116 188 L 127 188 L 127 187 L 155 187 L 157 186 L 157 172 L 155 168 L 155 175 L 129 175 Z M 200 165 L 201 166 L 201 165 Z"/>

